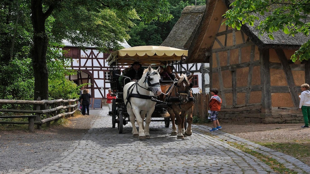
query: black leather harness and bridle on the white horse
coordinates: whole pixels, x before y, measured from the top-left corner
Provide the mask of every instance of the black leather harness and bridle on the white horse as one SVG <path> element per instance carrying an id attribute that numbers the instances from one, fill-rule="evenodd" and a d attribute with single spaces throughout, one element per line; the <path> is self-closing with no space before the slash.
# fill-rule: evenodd
<path id="1" fill-rule="evenodd" d="M 143 89 L 146 89 L 146 90 L 148 90 L 148 91 L 150 91 L 150 92 L 152 92 L 153 93 L 153 86 L 155 86 L 155 85 L 160 85 L 160 83 L 159 82 L 157 82 L 157 83 L 153 83 L 153 84 L 151 84 L 151 80 L 153 80 L 150 76 L 152 76 L 152 75 L 158 75 L 158 73 L 157 72 L 155 72 L 155 73 L 151 73 L 151 74 L 149 74 L 149 72 L 147 72 L 147 74 L 146 74 L 146 76 L 145 76 L 145 79 L 144 79 L 144 81 L 143 81 L 143 83 L 148 83 L 148 88 L 144 88 L 144 87 L 142 87 L 142 86 L 140 86 L 139 84 L 138 84 L 138 81 L 136 81 L 133 85 L 131 85 L 129 88 L 128 88 L 128 90 L 127 90 L 127 97 L 126 97 L 126 99 L 127 99 L 127 102 L 126 102 L 126 106 L 127 106 L 127 104 L 128 104 L 128 102 L 130 103 L 130 101 L 129 101 L 129 99 L 131 98 L 131 97 L 135 97 L 135 98 L 139 98 L 139 99 L 153 99 L 153 97 L 155 97 L 154 95 L 142 95 L 142 94 L 140 94 L 139 93 L 139 91 L 138 91 L 138 86 L 140 86 L 141 88 L 143 88 Z M 141 79 L 140 79 L 141 80 Z M 137 94 L 133 94 L 133 89 L 134 89 L 134 87 L 136 87 L 136 92 L 137 92 Z M 130 91 L 130 89 L 131 89 L 131 91 Z M 130 105 L 131 105 L 131 103 L 130 103 Z"/>

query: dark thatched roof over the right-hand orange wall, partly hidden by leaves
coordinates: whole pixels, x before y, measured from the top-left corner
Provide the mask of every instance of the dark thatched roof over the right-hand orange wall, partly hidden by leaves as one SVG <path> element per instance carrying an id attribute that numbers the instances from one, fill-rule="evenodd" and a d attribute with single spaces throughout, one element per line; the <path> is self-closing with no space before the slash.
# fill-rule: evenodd
<path id="1" fill-rule="evenodd" d="M 234 0 L 223 0 L 228 9 Z M 267 17 L 267 13 L 265 16 L 261 16 L 257 14 L 260 21 L 256 21 L 254 26 L 249 26 L 248 24 L 242 25 L 241 31 L 243 31 L 247 36 L 250 37 L 252 42 L 257 45 L 259 48 L 281 48 L 281 49 L 299 49 L 299 47 L 307 42 L 310 37 L 303 35 L 302 33 L 296 34 L 294 37 L 285 34 L 282 30 L 273 32 L 274 40 L 270 39 L 267 34 L 263 36 L 259 35 L 259 31 L 255 28 L 259 22 L 264 20 Z"/>

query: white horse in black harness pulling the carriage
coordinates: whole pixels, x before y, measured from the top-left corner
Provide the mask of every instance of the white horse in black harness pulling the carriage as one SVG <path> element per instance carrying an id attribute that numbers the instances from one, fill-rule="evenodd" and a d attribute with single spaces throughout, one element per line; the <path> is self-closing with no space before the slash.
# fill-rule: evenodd
<path id="1" fill-rule="evenodd" d="M 160 67 L 157 70 L 153 70 L 149 66 L 144 70 L 140 80 L 130 82 L 123 88 L 124 102 L 127 105 L 127 113 L 133 125 L 133 137 L 139 137 L 139 139 L 150 138 L 149 125 L 156 104 L 151 98 L 162 93 L 159 83 L 159 71 Z M 144 126 L 143 120 L 145 115 Z M 139 132 L 135 126 L 135 118 L 137 119 Z"/>

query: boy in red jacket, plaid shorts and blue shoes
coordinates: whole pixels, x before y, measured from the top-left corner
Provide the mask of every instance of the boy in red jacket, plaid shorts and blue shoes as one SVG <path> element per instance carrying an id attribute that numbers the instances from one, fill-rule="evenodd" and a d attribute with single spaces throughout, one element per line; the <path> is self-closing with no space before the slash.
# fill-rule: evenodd
<path id="1" fill-rule="evenodd" d="M 211 110 L 210 118 L 213 123 L 213 128 L 210 131 L 212 132 L 222 128 L 217 119 L 218 111 L 221 110 L 222 99 L 219 96 L 217 96 L 218 93 L 217 88 L 212 88 L 210 92 L 212 97 L 210 98 L 209 109 Z"/>

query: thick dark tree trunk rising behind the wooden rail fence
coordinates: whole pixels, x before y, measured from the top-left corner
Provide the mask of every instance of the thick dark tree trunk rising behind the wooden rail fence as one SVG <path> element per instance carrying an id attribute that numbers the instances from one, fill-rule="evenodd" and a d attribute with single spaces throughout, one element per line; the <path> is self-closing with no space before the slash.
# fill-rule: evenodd
<path id="1" fill-rule="evenodd" d="M 46 64 L 46 52 L 48 37 L 45 33 L 46 17 L 42 12 L 42 0 L 31 1 L 32 25 L 33 25 L 33 47 L 32 67 L 34 71 L 34 100 L 38 97 L 48 99 L 48 70 Z"/>

